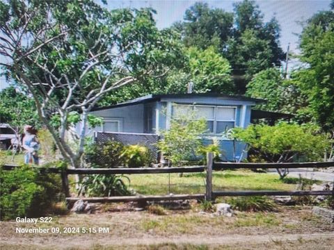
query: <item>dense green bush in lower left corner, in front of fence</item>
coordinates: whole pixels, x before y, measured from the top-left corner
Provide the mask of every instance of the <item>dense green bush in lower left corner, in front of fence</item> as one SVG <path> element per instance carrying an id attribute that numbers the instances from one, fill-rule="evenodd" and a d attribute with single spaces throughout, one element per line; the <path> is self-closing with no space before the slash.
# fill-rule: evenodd
<path id="1" fill-rule="evenodd" d="M 41 174 L 26 166 L 1 170 L 0 192 L 1 219 L 38 217 L 45 215 L 61 192 L 61 180 L 56 174 Z"/>

